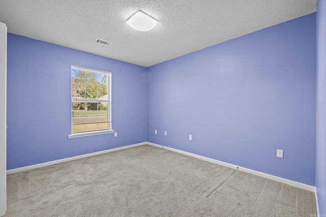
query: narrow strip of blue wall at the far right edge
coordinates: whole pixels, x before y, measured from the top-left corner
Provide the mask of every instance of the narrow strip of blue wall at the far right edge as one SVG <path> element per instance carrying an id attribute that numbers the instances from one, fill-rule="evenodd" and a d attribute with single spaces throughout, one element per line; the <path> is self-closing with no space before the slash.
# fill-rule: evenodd
<path id="1" fill-rule="evenodd" d="M 317 4 L 316 190 L 319 213 L 326 215 L 326 2 Z"/>

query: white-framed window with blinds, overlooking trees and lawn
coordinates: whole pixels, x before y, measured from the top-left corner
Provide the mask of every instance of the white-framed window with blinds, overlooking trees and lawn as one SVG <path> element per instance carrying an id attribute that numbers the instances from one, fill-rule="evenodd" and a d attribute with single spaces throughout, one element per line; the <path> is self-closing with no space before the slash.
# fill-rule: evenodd
<path id="1" fill-rule="evenodd" d="M 68 138 L 113 133 L 111 73 L 71 67 L 71 135 Z"/>

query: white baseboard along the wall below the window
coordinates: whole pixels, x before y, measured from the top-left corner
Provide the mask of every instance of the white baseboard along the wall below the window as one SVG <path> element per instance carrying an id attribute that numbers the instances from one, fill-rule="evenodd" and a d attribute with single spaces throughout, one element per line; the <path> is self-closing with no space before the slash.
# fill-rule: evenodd
<path id="1" fill-rule="evenodd" d="M 96 155 L 102 154 L 102 153 L 118 151 L 118 150 L 131 148 L 131 147 L 135 147 L 135 146 L 140 146 L 140 145 L 145 145 L 145 144 L 148 144 L 148 143 L 147 142 L 142 142 L 142 143 L 137 143 L 137 144 L 133 144 L 133 145 L 122 146 L 122 147 L 119 147 L 119 148 L 112 148 L 112 149 L 108 149 L 108 150 L 83 154 L 83 155 L 79 155 L 79 156 L 75 156 L 75 157 L 71 157 L 71 158 L 64 158 L 64 159 L 60 159 L 60 160 L 56 160 L 56 161 L 49 161 L 49 162 L 45 162 L 45 163 L 41 163 L 41 164 L 34 164 L 34 165 L 31 165 L 31 166 L 19 167 L 19 168 L 16 168 L 16 169 L 7 170 L 7 174 L 22 172 L 22 171 L 26 171 L 26 170 L 36 169 L 36 168 L 39 168 L 39 167 L 45 167 L 45 166 L 49 166 L 49 165 L 53 165 L 53 164 L 59 164 L 59 163 L 63 163 L 63 162 L 67 162 L 67 161 L 73 161 L 73 160 L 82 159 L 82 158 L 88 158 L 88 157 L 96 156 Z"/>

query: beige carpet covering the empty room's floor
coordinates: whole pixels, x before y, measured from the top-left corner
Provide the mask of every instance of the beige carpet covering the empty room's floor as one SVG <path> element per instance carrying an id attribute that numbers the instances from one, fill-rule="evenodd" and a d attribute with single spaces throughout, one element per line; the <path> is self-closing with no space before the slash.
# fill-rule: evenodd
<path id="1" fill-rule="evenodd" d="M 315 195 L 143 145 L 7 176 L 8 216 L 316 216 Z"/>

